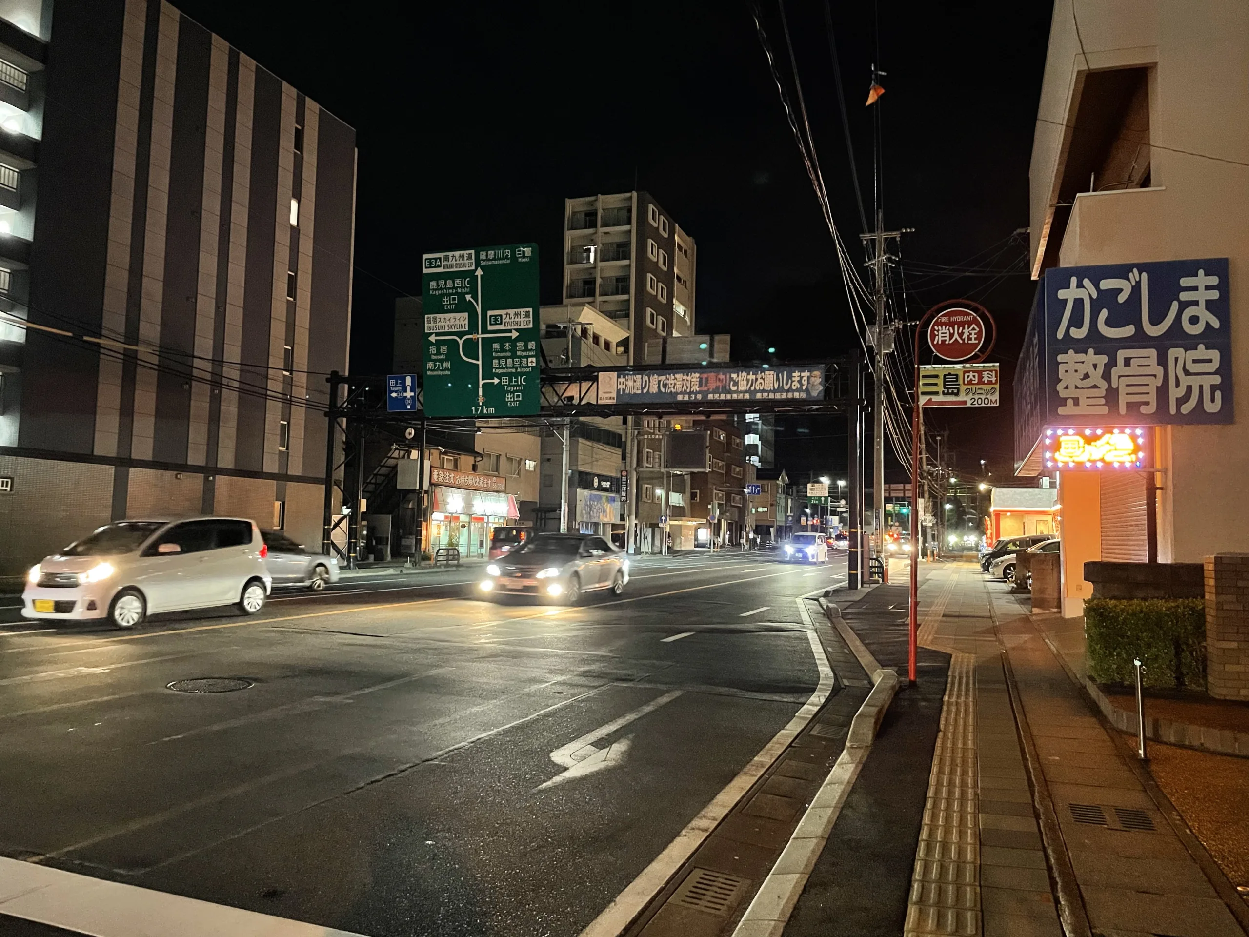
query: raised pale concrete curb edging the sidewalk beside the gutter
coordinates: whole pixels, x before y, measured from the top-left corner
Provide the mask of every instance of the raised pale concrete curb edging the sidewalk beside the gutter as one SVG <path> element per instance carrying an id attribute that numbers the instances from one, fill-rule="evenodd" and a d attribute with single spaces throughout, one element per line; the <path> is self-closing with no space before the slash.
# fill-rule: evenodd
<path id="1" fill-rule="evenodd" d="M 742 915 L 742 920 L 733 930 L 733 937 L 781 937 L 789 921 L 789 915 L 793 913 L 794 906 L 802 896 L 802 890 L 807 887 L 807 880 L 816 867 L 816 861 L 833 832 L 833 825 L 837 823 L 846 798 L 849 797 L 854 780 L 872 751 L 872 742 L 881 727 L 881 720 L 884 718 L 886 710 L 889 708 L 889 703 L 898 692 L 898 675 L 881 667 L 872 652 L 863 646 L 863 642 L 842 618 L 841 610 L 823 598 L 819 600 L 819 605 L 829 623 L 837 628 L 843 640 L 847 632 L 853 636 L 853 642 L 847 640 L 847 643 L 851 645 L 854 656 L 863 665 L 863 670 L 872 675 L 874 686 L 851 721 L 846 748 L 842 750 L 833 770 L 828 772 L 824 783 L 816 792 L 807 812 L 802 815 L 798 827 L 789 837 L 789 842 L 777 863 L 763 880 L 754 900 Z"/>

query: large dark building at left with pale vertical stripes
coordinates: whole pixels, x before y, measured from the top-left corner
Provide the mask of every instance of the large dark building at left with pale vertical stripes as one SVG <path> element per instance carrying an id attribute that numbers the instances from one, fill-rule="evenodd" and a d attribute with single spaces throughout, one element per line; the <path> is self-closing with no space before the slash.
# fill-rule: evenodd
<path id="1" fill-rule="evenodd" d="M 355 170 L 162 0 L 0 5 L 0 573 L 135 515 L 320 542 Z"/>

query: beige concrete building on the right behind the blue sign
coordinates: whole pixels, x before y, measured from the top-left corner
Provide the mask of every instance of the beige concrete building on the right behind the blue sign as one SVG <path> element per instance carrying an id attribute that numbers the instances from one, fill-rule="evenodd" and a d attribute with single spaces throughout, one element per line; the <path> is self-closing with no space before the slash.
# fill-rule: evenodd
<path id="1" fill-rule="evenodd" d="M 1143 470 L 1059 472 L 1068 616 L 1092 595 L 1085 561 L 1202 562 L 1249 552 L 1242 466 L 1249 422 L 1232 400 L 1235 386 L 1249 386 L 1242 287 L 1249 271 L 1249 122 L 1239 116 L 1249 111 L 1247 72 L 1249 6 L 1239 0 L 1054 6 L 1030 170 L 1033 275 L 1225 257 L 1229 282 L 1217 289 L 1232 320 L 1219 422 L 1178 425 L 1162 404 L 1139 420 L 1149 451 Z M 1155 319 L 1172 299 L 1154 297 Z M 1020 369 L 1027 365 L 1022 359 Z M 1168 380 L 1165 365 L 1159 382 Z M 1118 412 L 1108 419 L 1124 422 Z M 1017 425 L 1027 421 L 1017 404 Z M 1039 473 L 1029 447 L 1040 429 L 1018 440 L 1020 475 Z"/>

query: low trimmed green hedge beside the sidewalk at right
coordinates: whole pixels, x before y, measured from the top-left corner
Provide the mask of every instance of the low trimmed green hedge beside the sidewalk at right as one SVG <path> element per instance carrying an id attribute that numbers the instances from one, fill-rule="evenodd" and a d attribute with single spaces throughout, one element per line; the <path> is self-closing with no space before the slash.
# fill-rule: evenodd
<path id="1" fill-rule="evenodd" d="M 1205 690 L 1205 602 L 1200 598 L 1089 598 L 1084 602 L 1089 676 L 1148 687 Z"/>

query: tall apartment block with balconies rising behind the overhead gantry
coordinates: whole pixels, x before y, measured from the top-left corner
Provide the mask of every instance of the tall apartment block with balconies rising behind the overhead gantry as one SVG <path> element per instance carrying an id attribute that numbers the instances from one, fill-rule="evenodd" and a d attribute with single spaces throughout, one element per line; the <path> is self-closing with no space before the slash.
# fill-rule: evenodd
<path id="1" fill-rule="evenodd" d="M 694 334 L 697 247 L 647 192 L 565 201 L 563 295 L 628 332 L 626 364 L 657 364 L 663 340 Z"/>

